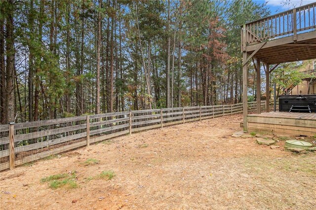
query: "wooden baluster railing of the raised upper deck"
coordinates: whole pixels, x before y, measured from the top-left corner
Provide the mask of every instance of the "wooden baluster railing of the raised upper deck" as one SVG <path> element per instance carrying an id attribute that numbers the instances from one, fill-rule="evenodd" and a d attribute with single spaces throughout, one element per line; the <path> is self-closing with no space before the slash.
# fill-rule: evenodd
<path id="1" fill-rule="evenodd" d="M 296 40 L 297 34 L 315 28 L 316 2 L 245 24 L 241 30 L 246 31 L 246 40 L 241 43 L 259 43 L 289 35 Z"/>

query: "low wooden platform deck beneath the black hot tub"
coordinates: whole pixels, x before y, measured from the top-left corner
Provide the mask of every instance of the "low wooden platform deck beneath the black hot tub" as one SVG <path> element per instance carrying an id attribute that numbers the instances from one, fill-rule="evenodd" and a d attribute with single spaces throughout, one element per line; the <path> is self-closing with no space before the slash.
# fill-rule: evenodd
<path id="1" fill-rule="evenodd" d="M 265 112 L 247 115 L 248 132 L 314 136 L 316 113 Z"/>

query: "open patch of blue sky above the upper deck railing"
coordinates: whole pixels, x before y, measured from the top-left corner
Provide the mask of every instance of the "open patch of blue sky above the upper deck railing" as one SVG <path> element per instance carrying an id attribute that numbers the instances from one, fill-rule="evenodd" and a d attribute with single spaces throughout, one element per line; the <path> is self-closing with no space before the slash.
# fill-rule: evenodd
<path id="1" fill-rule="evenodd" d="M 270 8 L 271 15 L 283 12 L 294 7 L 303 6 L 309 3 L 313 3 L 316 0 L 253 0 L 260 3 L 267 3 Z"/>

